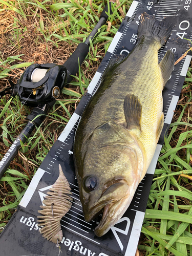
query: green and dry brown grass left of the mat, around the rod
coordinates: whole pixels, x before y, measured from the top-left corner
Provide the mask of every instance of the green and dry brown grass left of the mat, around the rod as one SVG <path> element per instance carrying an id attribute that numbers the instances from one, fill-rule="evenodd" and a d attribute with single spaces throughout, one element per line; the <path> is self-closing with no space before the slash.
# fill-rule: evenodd
<path id="1" fill-rule="evenodd" d="M 125 1 L 120 1 L 121 5 Z M 128 6 L 123 7 L 126 13 Z M 2 30 L 0 37 L 0 89 L 9 87 L 7 78 L 16 82 L 31 63 L 55 62 L 62 65 L 86 40 L 99 20 L 105 3 L 93 1 L 0 1 Z M 114 9 L 115 10 L 115 9 Z M 96 14 L 94 14 L 94 12 Z M 12 161 L 0 183 L 0 227 L 11 218 L 24 195 L 38 166 L 65 128 L 84 91 L 96 72 L 102 57 L 118 30 L 122 16 L 117 11 L 110 15 L 111 30 L 103 25 L 94 39 L 90 52 L 78 76 L 56 101 L 41 126 L 33 132 Z M 30 108 L 22 105 L 18 97 L 0 100 L 0 159 L 26 124 Z"/>

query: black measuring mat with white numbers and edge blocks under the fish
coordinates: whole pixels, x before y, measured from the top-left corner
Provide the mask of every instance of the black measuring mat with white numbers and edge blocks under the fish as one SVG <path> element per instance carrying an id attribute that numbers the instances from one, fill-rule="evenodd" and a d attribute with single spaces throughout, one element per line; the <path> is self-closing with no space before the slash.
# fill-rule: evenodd
<path id="1" fill-rule="evenodd" d="M 45 240 L 40 234 L 37 216 L 39 205 L 49 188 L 59 175 L 59 164 L 72 188 L 72 207 L 61 219 L 63 239 L 60 243 L 61 255 L 86 256 L 134 256 L 139 241 L 142 222 L 145 214 L 148 195 L 164 134 L 167 131 L 184 83 L 191 56 L 186 55 L 174 68 L 163 90 L 164 127 L 157 144 L 154 158 L 143 180 L 140 182 L 130 207 L 118 223 L 103 237 L 94 234 L 101 216 L 90 223 L 84 220 L 82 206 L 78 195 L 78 185 L 73 163 L 73 142 L 75 131 L 81 115 L 88 102 L 99 87 L 103 71 L 116 54 L 129 54 L 137 42 L 137 29 L 141 13 L 146 12 L 159 20 L 165 16 L 177 16 L 177 25 L 166 44 L 159 50 L 159 61 L 166 51 L 175 53 L 175 61 L 189 48 L 192 39 L 192 7 L 191 0 L 134 1 L 116 33 L 108 52 L 106 52 L 87 93 L 80 100 L 75 113 L 69 120 L 65 130 L 59 136 L 45 160 L 41 163 L 33 177 L 16 212 L 1 233 L 1 255 L 58 255 L 59 249 L 52 242 Z"/>

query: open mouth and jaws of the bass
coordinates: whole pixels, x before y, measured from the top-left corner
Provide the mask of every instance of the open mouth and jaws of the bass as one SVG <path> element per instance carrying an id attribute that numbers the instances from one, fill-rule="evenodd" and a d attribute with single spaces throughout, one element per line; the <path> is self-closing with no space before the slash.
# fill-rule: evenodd
<path id="1" fill-rule="evenodd" d="M 113 195 L 111 195 L 112 190 Z M 115 183 L 102 194 L 100 199 L 91 207 L 89 212 L 84 214 L 84 219 L 90 222 L 103 211 L 102 218 L 94 230 L 97 237 L 103 236 L 122 217 L 127 209 L 126 201 L 127 198 L 129 198 L 129 195 L 130 188 L 127 183 Z"/>

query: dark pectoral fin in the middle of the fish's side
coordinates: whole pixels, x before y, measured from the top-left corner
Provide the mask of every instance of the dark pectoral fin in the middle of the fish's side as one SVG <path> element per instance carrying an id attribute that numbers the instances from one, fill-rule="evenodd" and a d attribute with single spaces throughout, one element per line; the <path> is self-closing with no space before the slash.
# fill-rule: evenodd
<path id="1" fill-rule="evenodd" d="M 127 129 L 138 128 L 141 131 L 141 110 L 142 106 L 139 98 L 134 94 L 128 94 L 124 99 L 124 115 Z"/>

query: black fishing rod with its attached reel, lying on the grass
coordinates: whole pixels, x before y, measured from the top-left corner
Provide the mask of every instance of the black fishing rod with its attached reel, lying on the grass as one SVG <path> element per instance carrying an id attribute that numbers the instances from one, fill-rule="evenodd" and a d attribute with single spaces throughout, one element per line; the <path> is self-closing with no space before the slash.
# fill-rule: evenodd
<path id="1" fill-rule="evenodd" d="M 73 54 L 63 65 L 55 63 L 32 64 L 22 74 L 19 81 L 14 84 L 9 80 L 11 87 L 0 92 L 0 99 L 10 94 L 12 97 L 18 95 L 19 100 L 27 106 L 32 106 L 31 113 L 27 116 L 27 124 L 23 131 L 17 136 L 5 156 L 0 161 L 0 179 L 6 172 L 10 162 L 17 155 L 18 148 L 30 137 L 35 127 L 39 127 L 44 121 L 56 99 L 60 96 L 63 87 L 68 84 L 78 72 L 83 60 L 86 58 L 90 41 L 98 34 L 98 29 L 106 23 L 108 14 L 112 14 L 112 3 L 104 7 L 99 22 L 96 24 L 86 41 L 81 42 Z"/>

